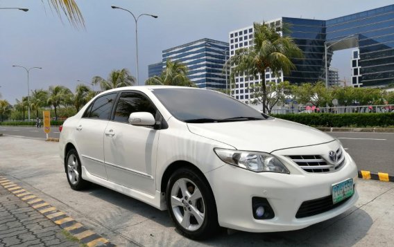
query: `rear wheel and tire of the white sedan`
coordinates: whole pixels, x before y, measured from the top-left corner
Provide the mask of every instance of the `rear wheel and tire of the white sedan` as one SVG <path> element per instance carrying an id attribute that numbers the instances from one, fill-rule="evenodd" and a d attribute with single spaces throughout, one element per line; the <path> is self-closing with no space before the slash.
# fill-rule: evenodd
<path id="1" fill-rule="evenodd" d="M 82 178 L 82 167 L 76 149 L 70 149 L 66 158 L 67 181 L 73 190 L 83 190 L 87 187 L 87 181 Z"/>

